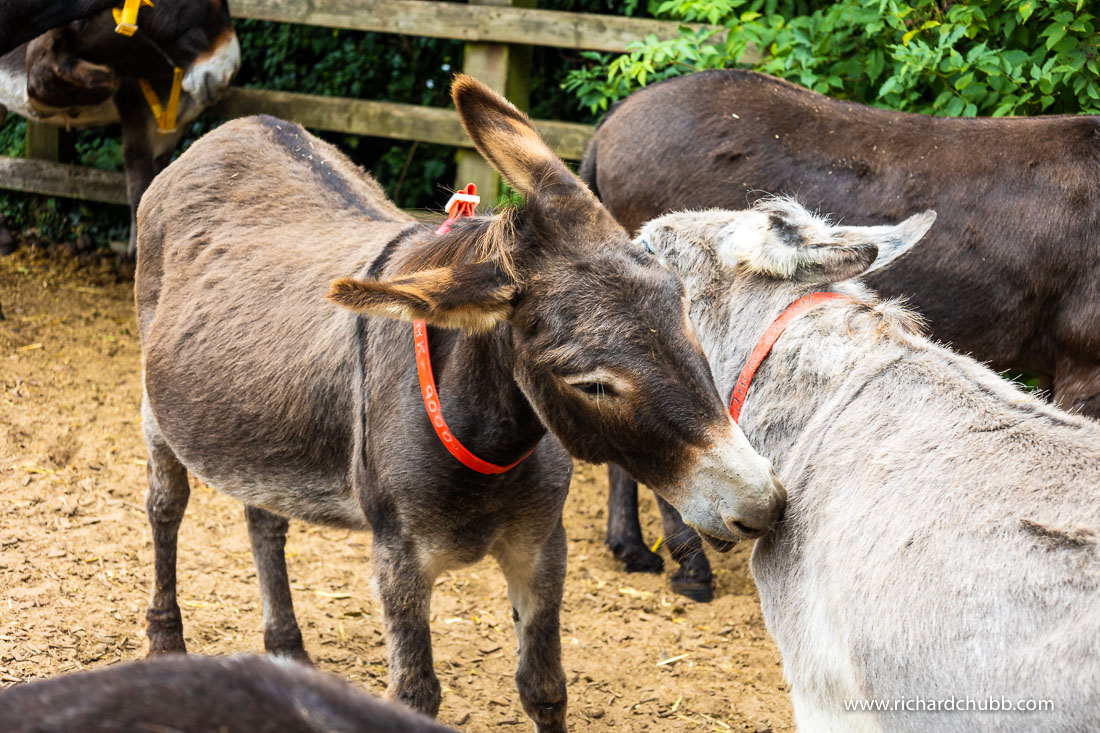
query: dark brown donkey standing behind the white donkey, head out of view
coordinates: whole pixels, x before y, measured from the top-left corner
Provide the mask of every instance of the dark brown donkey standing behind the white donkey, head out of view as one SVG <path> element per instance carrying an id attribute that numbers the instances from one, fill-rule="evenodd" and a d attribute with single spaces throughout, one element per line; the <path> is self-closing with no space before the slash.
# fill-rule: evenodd
<path id="1" fill-rule="evenodd" d="M 746 208 L 765 192 L 851 225 L 935 209 L 924 243 L 868 284 L 906 296 L 938 340 L 997 370 L 1040 372 L 1060 407 L 1100 417 L 1100 118 L 906 114 L 705 72 L 615 108 L 582 177 L 630 232 L 678 209 Z M 634 482 L 612 473 L 608 544 L 628 569 L 660 569 Z M 688 560 L 678 587 L 708 597 L 698 538 L 662 514 L 673 558 Z"/>

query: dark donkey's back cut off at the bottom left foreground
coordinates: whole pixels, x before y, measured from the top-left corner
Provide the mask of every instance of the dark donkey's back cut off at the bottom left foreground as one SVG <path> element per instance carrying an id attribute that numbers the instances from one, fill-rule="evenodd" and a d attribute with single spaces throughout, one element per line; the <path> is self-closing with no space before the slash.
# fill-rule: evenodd
<path id="1" fill-rule="evenodd" d="M 4 733 L 448 733 L 332 675 L 172 655 L 0 690 Z"/>

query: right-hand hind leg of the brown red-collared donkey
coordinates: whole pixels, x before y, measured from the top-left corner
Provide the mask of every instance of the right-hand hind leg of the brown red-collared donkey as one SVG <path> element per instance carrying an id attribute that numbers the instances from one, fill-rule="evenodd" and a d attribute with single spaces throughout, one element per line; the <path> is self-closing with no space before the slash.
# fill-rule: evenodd
<path id="1" fill-rule="evenodd" d="M 286 575 L 286 517 L 255 506 L 244 507 L 249 522 L 252 559 L 260 576 L 264 605 L 264 648 L 274 657 L 310 664 L 301 643 L 301 630 L 294 617 L 290 581 Z"/>

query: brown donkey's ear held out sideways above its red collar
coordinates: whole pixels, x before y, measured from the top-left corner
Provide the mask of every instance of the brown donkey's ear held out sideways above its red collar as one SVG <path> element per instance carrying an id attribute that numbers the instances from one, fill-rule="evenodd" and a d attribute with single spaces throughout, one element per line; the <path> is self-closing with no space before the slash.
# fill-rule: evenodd
<path id="1" fill-rule="evenodd" d="M 332 283 L 328 298 L 373 316 L 487 331 L 512 315 L 515 293 L 515 282 L 490 261 L 425 270 L 388 281 L 344 277 Z"/>

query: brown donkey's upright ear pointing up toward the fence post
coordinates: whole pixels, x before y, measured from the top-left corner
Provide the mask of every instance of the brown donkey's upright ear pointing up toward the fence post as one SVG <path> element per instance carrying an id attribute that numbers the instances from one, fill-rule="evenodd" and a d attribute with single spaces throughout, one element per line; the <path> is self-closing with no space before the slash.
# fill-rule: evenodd
<path id="1" fill-rule="evenodd" d="M 587 190 L 507 99 L 463 74 L 454 77 L 451 97 L 477 152 L 520 194 L 562 184 Z"/>

